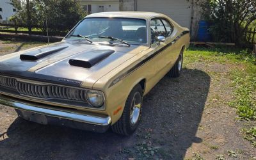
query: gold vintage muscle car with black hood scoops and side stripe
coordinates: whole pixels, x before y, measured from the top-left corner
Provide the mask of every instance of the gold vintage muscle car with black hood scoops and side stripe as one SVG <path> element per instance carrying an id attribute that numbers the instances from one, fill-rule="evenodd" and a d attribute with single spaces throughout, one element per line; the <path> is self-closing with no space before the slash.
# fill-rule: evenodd
<path id="1" fill-rule="evenodd" d="M 143 96 L 180 76 L 189 29 L 166 15 L 88 15 L 61 42 L 0 57 L 0 103 L 32 122 L 130 135 Z"/>

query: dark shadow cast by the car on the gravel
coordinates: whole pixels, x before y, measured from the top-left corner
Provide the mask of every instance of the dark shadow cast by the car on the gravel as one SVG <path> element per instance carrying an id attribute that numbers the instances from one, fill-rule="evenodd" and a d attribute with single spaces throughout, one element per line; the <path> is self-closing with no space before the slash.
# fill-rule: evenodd
<path id="1" fill-rule="evenodd" d="M 17 118 L 0 141 L 1 159 L 127 159 L 144 157 L 141 143 L 156 147 L 147 159 L 183 159 L 196 138 L 211 78 L 184 69 L 164 77 L 144 99 L 140 129 L 130 137 L 39 125 Z M 3 133 L 2 133 L 3 134 Z"/>

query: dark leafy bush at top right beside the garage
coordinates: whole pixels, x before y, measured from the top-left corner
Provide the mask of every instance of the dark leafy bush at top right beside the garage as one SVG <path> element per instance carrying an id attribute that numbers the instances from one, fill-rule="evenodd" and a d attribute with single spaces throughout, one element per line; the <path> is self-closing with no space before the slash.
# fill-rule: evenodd
<path id="1" fill-rule="evenodd" d="M 210 32 L 214 40 L 246 45 L 246 30 L 256 20 L 255 0 L 197 0 L 197 3 L 212 24 Z"/>

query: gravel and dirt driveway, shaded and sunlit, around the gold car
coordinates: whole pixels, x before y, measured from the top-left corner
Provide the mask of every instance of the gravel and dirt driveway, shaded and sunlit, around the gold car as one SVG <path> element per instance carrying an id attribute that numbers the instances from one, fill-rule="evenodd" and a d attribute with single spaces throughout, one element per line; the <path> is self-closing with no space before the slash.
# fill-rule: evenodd
<path id="1" fill-rule="evenodd" d="M 256 159 L 227 106 L 230 68 L 198 61 L 177 79 L 164 77 L 144 98 L 129 137 L 35 124 L 0 106 L 0 159 Z"/>

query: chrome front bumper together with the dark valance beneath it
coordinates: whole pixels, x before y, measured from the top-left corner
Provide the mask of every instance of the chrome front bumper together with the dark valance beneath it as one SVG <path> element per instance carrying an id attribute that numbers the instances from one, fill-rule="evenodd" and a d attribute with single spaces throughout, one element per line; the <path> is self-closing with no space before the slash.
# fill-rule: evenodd
<path id="1" fill-rule="evenodd" d="M 0 94 L 0 104 L 15 108 L 18 115 L 40 124 L 64 125 L 86 131 L 106 132 L 111 125 L 110 116 L 90 115 L 74 110 L 52 109 L 47 106 Z"/>

